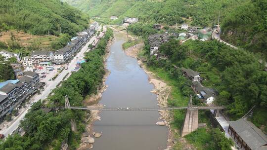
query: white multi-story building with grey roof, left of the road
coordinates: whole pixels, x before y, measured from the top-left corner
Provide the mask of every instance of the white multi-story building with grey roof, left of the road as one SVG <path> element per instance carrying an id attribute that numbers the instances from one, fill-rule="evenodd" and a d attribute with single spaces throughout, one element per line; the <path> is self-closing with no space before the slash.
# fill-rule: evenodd
<path id="1" fill-rule="evenodd" d="M 33 51 L 30 57 L 24 57 L 22 64 L 28 67 L 51 66 L 53 61 L 53 52 L 51 51 Z"/>

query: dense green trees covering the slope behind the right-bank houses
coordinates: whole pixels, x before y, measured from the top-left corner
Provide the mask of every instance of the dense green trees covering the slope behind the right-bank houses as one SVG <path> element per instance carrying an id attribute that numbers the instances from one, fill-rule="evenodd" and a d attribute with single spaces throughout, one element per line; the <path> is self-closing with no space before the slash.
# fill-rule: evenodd
<path id="1" fill-rule="evenodd" d="M 232 119 L 242 117 L 254 105 L 257 109 L 267 108 L 267 72 L 253 53 L 232 49 L 216 40 L 189 40 L 179 45 L 175 39 L 162 44 L 160 51 L 169 57 L 169 63 L 201 72 L 206 79 L 203 84 L 219 90 L 216 103 L 226 106 L 226 113 Z M 169 63 L 153 57 L 147 61 L 148 65 L 179 76 Z M 187 84 L 179 87 L 186 93 L 183 85 Z M 265 124 L 265 120 L 258 122 Z"/>

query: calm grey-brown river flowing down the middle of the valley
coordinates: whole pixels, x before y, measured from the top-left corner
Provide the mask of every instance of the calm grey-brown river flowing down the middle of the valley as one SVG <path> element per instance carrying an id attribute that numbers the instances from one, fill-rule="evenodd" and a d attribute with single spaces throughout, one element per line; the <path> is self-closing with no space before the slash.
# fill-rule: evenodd
<path id="1" fill-rule="evenodd" d="M 110 46 L 106 79 L 108 88 L 102 93 L 99 103 L 106 107 L 145 108 L 158 107 L 157 95 L 148 75 L 139 67 L 135 58 L 122 49 L 127 40 L 125 33 L 114 33 Z M 158 126 L 158 111 L 121 112 L 102 111 L 101 120 L 93 124 L 93 131 L 103 132 L 95 138 L 93 150 L 164 150 L 167 147 L 168 128 Z"/>

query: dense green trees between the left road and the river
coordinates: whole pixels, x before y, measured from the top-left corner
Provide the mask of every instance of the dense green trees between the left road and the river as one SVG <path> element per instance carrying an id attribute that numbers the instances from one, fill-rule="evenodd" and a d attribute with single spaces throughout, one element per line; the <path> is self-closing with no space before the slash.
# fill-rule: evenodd
<path id="1" fill-rule="evenodd" d="M 69 149 L 76 150 L 79 134 L 84 131 L 81 121 L 85 112 L 59 110 L 45 113 L 43 108 L 64 106 L 65 95 L 68 95 L 71 105 L 83 106 L 84 97 L 96 92 L 97 87 L 102 84 L 105 74 L 103 55 L 111 37 L 112 31 L 108 29 L 97 47 L 85 54 L 86 63 L 82 64 L 82 68 L 52 91 L 53 94 L 47 98 L 48 104 L 39 101 L 32 106 L 20 124 L 26 134 L 23 137 L 8 137 L 5 142 L 0 143 L 0 150 L 60 150 L 62 142 L 66 140 L 69 142 Z M 79 133 L 71 132 L 72 118 L 76 120 Z"/>

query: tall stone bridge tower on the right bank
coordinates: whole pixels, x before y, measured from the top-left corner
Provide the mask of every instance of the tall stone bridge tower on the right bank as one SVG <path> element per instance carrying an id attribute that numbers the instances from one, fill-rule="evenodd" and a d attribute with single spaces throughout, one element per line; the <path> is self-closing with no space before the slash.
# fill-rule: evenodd
<path id="1" fill-rule="evenodd" d="M 181 137 L 195 131 L 198 128 L 198 108 L 193 107 L 192 95 L 186 109 L 185 118 L 181 129 Z"/>

